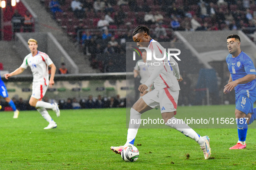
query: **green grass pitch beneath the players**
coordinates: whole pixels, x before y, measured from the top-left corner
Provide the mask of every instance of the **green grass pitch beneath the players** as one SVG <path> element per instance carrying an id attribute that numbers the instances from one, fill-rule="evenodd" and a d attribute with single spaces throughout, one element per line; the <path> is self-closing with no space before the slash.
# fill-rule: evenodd
<path id="1" fill-rule="evenodd" d="M 227 110 L 234 116 L 234 107 L 178 107 L 178 113 Z M 56 129 L 44 130 L 48 123 L 37 111 L 21 111 L 18 119 L 13 112 L 0 112 L 0 170 L 256 169 L 256 129 L 248 129 L 243 150 L 229 150 L 238 140 L 237 129 L 195 129 L 211 139 L 209 160 L 196 142 L 175 129 L 139 129 L 139 159 L 124 162 L 110 146 L 126 142 L 126 109 L 61 110 L 59 118 L 49 113 Z"/>

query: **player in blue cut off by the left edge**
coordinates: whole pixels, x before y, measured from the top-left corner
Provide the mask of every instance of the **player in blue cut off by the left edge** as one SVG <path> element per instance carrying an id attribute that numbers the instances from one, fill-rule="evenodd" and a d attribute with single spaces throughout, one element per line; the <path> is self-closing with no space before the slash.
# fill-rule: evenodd
<path id="1" fill-rule="evenodd" d="M 13 111 L 14 111 L 13 118 L 14 119 L 18 118 L 19 110 L 16 109 L 14 102 L 12 101 L 12 99 L 9 98 L 6 86 L 4 85 L 1 77 L 0 77 L 0 96 L 2 96 L 4 98 L 4 100 L 9 103 L 10 107 L 13 108 Z M 2 106 L 1 106 L 1 108 L 2 108 Z"/>

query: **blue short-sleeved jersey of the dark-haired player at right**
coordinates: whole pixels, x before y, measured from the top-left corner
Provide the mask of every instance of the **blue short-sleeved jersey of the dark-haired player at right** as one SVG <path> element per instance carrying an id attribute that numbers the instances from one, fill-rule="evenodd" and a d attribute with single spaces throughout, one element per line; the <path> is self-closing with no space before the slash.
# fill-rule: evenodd
<path id="1" fill-rule="evenodd" d="M 228 54 L 226 62 L 233 81 L 241 79 L 248 74 L 256 75 L 252 59 L 243 51 L 235 58 L 233 58 L 231 54 Z M 256 88 L 255 86 L 256 81 L 254 79 L 246 84 L 237 85 L 237 87 L 235 87 L 235 92 L 237 94 L 246 90 L 253 90 Z"/>

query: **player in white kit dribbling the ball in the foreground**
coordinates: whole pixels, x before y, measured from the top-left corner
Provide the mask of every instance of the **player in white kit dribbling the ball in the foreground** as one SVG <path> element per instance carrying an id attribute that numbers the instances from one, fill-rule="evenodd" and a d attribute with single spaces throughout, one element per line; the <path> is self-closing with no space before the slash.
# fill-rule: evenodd
<path id="1" fill-rule="evenodd" d="M 153 40 L 150 37 L 149 28 L 143 25 L 139 25 L 133 31 L 133 41 L 137 43 L 139 47 L 148 47 L 153 54 L 156 53 L 156 57 L 163 58 L 164 48 L 159 42 Z M 154 83 L 155 89 L 145 94 L 141 99 L 136 101 L 130 110 L 130 123 L 127 134 L 127 141 L 124 146 L 113 147 L 111 150 L 120 154 L 122 149 L 127 145 L 133 145 L 136 134 L 140 126 L 141 114 L 151 110 L 152 108 L 160 106 L 162 118 L 165 121 L 165 125 L 172 127 L 191 139 L 194 139 L 201 146 L 204 152 L 204 159 L 208 159 L 211 156 L 211 148 L 209 145 L 210 139 L 208 136 L 201 137 L 193 129 L 191 129 L 183 120 L 178 120 L 174 117 L 179 94 L 178 81 L 182 81 L 179 74 L 178 63 L 170 57 L 170 62 L 175 63 L 174 66 L 169 66 L 167 57 L 164 61 L 155 60 L 152 56 L 152 60 L 147 60 L 149 66 L 150 77 L 145 84 L 139 86 L 139 91 L 144 92 L 149 86 Z M 153 64 L 159 62 L 159 64 Z M 163 64 L 165 63 L 165 65 Z M 178 81 L 177 81 L 178 80 Z M 139 124 L 132 123 L 131 120 L 136 120 Z"/>

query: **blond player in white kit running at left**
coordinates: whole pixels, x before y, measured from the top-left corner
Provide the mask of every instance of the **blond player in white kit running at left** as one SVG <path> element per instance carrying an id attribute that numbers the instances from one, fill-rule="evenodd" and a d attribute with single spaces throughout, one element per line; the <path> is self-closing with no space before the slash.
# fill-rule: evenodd
<path id="1" fill-rule="evenodd" d="M 52 120 L 52 117 L 49 115 L 46 109 L 52 109 L 56 113 L 57 117 L 59 117 L 60 110 L 58 108 L 58 104 L 50 104 L 41 100 L 44 97 L 48 86 L 52 87 L 52 85 L 54 85 L 53 79 L 55 76 L 56 67 L 47 54 L 37 50 L 38 44 L 35 39 L 30 38 L 28 44 L 31 53 L 24 58 L 22 65 L 15 71 L 3 76 L 8 79 L 8 77 L 22 73 L 28 66 L 31 68 L 33 73 L 33 84 L 29 104 L 30 106 L 36 107 L 43 118 L 49 122 L 49 125 L 44 129 L 53 129 L 57 127 L 57 124 Z M 51 67 L 50 80 L 48 66 Z"/>

